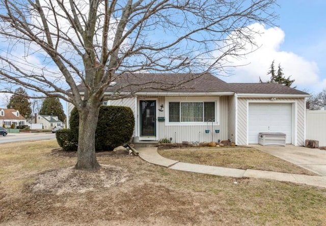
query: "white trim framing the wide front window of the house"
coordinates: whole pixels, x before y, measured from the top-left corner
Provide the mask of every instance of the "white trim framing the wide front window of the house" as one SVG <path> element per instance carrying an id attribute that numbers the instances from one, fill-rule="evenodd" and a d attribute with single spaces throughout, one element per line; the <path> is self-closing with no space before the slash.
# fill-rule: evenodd
<path id="1" fill-rule="evenodd" d="M 166 97 L 165 98 L 165 125 L 166 126 L 207 126 L 207 122 L 170 122 L 169 103 L 170 102 L 214 102 L 215 103 L 215 122 L 213 125 L 220 125 L 220 97 Z M 209 122 L 211 125 L 211 122 Z"/>

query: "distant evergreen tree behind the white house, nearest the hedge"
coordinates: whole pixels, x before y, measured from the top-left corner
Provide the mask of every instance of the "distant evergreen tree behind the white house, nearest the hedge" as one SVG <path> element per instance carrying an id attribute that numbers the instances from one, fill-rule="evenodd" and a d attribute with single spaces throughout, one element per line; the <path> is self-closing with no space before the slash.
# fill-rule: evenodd
<path id="1" fill-rule="evenodd" d="M 58 97 L 47 97 L 42 103 L 40 115 L 58 116 L 59 120 L 64 122 L 66 115 Z"/>

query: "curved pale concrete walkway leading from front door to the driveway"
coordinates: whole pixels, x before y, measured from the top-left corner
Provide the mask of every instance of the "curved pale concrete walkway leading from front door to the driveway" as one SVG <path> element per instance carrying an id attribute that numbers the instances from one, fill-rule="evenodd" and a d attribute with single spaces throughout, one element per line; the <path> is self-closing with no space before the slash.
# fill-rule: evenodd
<path id="1" fill-rule="evenodd" d="M 326 176 L 307 176 L 258 170 L 238 170 L 235 168 L 184 163 L 162 157 L 157 153 L 156 147 L 137 148 L 137 151 L 139 152 L 139 156 L 143 160 L 155 165 L 171 168 L 172 170 L 235 178 L 250 177 L 277 181 L 287 181 L 292 183 L 307 184 L 326 188 Z"/>

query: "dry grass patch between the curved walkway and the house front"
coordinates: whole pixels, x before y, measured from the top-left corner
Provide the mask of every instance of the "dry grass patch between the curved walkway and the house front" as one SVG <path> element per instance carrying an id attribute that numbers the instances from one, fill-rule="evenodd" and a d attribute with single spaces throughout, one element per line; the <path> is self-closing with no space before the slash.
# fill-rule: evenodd
<path id="1" fill-rule="evenodd" d="M 316 175 L 300 166 L 249 147 L 160 149 L 166 158 L 203 165 L 242 170 L 275 171 L 289 174 Z"/>

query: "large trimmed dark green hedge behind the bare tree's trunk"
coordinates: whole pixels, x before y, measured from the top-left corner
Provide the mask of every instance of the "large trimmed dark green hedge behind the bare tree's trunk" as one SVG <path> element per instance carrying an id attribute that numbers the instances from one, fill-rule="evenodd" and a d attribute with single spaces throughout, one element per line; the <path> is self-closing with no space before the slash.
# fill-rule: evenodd
<path id="1" fill-rule="evenodd" d="M 66 135 L 62 135 L 63 138 L 60 137 L 60 139 L 71 140 L 71 142 L 61 142 L 63 146 L 69 146 L 68 149 L 73 147 L 72 144 L 76 140 L 78 143 L 79 114 L 76 108 L 73 108 L 71 111 L 69 125 L 71 133 L 66 132 Z M 113 150 L 120 145 L 130 142 L 133 129 L 134 116 L 130 107 L 101 106 L 95 132 L 95 150 Z M 63 133 L 63 130 L 60 132 Z M 60 145 L 59 140 L 58 144 Z M 60 147 L 66 150 L 63 146 L 60 145 Z M 77 150 L 77 146 L 75 150 Z"/>

